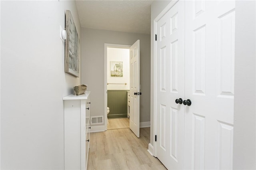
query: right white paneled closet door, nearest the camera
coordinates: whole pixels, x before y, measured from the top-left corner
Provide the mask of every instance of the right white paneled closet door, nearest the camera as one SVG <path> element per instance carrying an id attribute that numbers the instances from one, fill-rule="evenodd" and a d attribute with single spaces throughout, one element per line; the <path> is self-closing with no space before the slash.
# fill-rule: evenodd
<path id="1" fill-rule="evenodd" d="M 234 1 L 186 1 L 185 169 L 232 169 Z"/>

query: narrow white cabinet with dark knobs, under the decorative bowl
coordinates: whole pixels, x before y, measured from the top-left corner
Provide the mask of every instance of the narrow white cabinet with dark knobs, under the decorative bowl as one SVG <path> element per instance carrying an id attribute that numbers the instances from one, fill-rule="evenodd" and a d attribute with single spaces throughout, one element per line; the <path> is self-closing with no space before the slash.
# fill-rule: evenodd
<path id="1" fill-rule="evenodd" d="M 64 169 L 86 170 L 90 143 L 90 91 L 64 101 Z"/>

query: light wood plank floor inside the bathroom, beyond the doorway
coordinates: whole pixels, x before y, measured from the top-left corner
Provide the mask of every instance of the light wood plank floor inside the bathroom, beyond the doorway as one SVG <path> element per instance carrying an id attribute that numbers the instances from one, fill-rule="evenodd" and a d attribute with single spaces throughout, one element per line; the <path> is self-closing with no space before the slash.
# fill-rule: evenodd
<path id="1" fill-rule="evenodd" d="M 108 119 L 108 130 L 129 128 L 129 118 Z"/>

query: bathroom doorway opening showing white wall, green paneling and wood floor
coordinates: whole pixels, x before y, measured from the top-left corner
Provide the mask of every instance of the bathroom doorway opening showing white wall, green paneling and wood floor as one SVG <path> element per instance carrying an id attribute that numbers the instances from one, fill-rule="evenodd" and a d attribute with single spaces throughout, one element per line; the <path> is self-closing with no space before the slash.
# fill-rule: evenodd
<path id="1" fill-rule="evenodd" d="M 129 128 L 130 45 L 105 44 L 106 130 Z"/>

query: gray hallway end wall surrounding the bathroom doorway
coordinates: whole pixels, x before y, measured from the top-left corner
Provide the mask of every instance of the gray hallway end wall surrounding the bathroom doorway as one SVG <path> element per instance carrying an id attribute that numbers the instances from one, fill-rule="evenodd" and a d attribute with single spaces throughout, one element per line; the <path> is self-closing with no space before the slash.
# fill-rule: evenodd
<path id="1" fill-rule="evenodd" d="M 140 40 L 140 122 L 150 121 L 150 35 L 82 28 L 82 84 L 91 91 L 90 114 L 104 116 L 104 43 L 132 45 Z M 104 124 L 103 124 L 104 125 Z"/>

